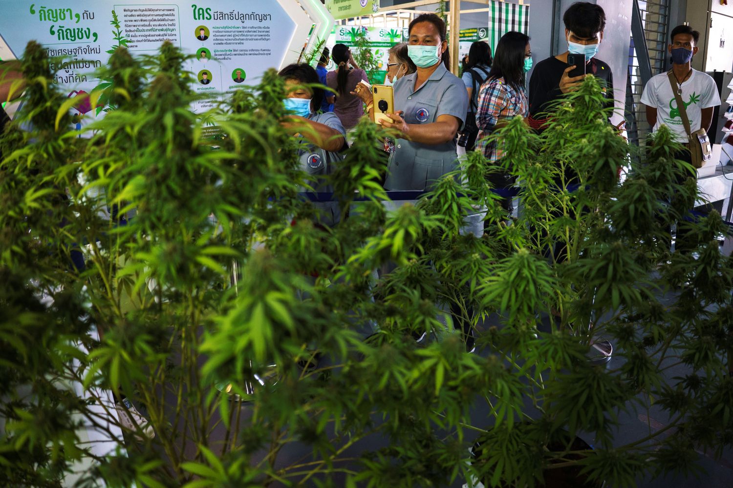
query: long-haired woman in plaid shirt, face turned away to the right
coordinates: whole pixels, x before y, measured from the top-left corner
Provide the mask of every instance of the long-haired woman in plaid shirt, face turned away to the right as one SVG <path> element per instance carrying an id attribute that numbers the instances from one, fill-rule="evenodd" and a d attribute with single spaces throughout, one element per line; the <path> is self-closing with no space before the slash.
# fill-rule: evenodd
<path id="1" fill-rule="evenodd" d="M 479 89 L 476 108 L 476 126 L 479 127 L 476 151 L 484 153 L 489 166 L 498 164 L 504 147 L 501 141 L 487 139 L 488 136 L 507 124 L 509 119 L 527 116 L 529 102 L 524 85 L 531 67 L 529 37 L 515 31 L 501 36 L 488 78 Z M 503 172 L 490 174 L 488 180 L 497 189 L 507 189 L 514 183 L 509 174 Z M 512 211 L 511 198 L 502 198 L 501 203 L 508 212 Z"/>

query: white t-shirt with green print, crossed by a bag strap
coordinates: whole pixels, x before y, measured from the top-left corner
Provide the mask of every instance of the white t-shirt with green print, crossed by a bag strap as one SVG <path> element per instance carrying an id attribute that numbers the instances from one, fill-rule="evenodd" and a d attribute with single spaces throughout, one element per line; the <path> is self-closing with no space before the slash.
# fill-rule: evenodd
<path id="1" fill-rule="evenodd" d="M 685 102 L 685 110 L 692 132 L 700 128 L 703 108 L 721 105 L 721 97 L 718 95 L 715 80 L 707 73 L 697 70 L 692 70 L 690 78 L 682 83 L 680 97 L 682 97 L 682 102 Z M 647 86 L 644 86 L 641 103 L 657 109 L 657 124 L 652 127 L 653 130 L 657 130 L 660 124 L 665 124 L 676 135 L 677 142 L 689 142 L 666 72 L 652 76 Z"/>

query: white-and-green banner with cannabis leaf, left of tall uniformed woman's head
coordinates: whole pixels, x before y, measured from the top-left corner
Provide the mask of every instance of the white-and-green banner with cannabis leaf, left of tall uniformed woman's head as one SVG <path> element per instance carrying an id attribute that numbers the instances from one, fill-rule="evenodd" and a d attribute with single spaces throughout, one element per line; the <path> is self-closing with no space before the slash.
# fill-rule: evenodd
<path id="1" fill-rule="evenodd" d="M 408 41 L 408 29 L 386 29 L 383 27 L 362 27 L 362 26 L 336 26 L 328 37 L 326 46 L 333 48 L 334 44 L 345 44 L 352 48 L 356 48 L 356 39 L 360 32 L 369 41 L 369 51 L 372 53 L 372 59 L 377 62 L 377 70 L 372 72 L 372 83 L 383 83 L 384 77 L 387 75 L 387 61 L 389 59 L 389 48 L 399 44 L 399 42 Z M 329 59 L 326 67 L 329 71 L 335 70 L 334 60 Z"/>

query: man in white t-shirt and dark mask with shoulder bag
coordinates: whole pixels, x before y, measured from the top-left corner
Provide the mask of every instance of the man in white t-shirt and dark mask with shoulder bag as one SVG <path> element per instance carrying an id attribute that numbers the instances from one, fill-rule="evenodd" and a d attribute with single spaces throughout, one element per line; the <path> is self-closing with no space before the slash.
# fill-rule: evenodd
<path id="1" fill-rule="evenodd" d="M 675 88 L 682 97 L 690 121 L 690 132 L 697 129 L 710 129 L 712 123 L 712 109 L 721 105 L 718 87 L 707 73 L 693 70 L 690 66 L 692 57 L 697 53 L 698 31 L 690 26 L 677 26 L 672 29 L 671 44 L 667 50 L 672 55 L 672 73 L 677 83 Z M 653 130 L 664 124 L 674 133 L 679 143 L 688 144 L 688 135 L 682 116 L 677 107 L 677 101 L 669 83 L 666 72 L 653 76 L 644 93 L 641 94 L 641 103 L 647 108 L 647 121 Z M 689 151 L 682 151 L 678 159 L 690 162 Z"/>

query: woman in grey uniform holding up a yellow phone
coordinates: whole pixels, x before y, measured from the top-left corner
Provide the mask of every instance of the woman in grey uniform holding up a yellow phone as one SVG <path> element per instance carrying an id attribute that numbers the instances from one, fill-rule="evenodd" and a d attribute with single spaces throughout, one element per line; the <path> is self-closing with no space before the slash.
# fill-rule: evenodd
<path id="1" fill-rule="evenodd" d="M 446 24 L 435 14 L 410 22 L 408 56 L 417 70 L 394 83 L 392 122 L 397 130 L 385 188 L 430 189 L 432 182 L 456 168 L 456 132 L 463 126 L 468 94 L 463 81 L 446 70 Z"/>

